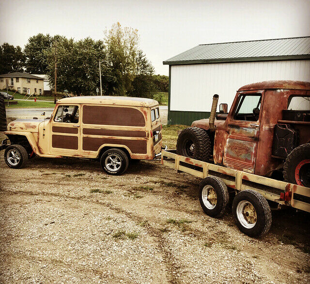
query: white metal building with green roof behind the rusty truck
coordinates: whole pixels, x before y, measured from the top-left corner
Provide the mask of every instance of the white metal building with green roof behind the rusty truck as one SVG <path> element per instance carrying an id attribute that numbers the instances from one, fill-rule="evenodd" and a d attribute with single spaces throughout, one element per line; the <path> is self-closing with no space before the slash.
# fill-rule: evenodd
<path id="1" fill-rule="evenodd" d="M 267 80 L 310 81 L 310 36 L 202 44 L 169 65 L 168 124 L 209 117 L 214 94 L 232 105 L 236 90 Z"/>

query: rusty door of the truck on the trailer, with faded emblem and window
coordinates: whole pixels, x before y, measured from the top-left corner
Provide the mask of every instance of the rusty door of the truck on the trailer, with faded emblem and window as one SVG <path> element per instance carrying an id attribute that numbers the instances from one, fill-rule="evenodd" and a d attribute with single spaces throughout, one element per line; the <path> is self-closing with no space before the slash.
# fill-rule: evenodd
<path id="1" fill-rule="evenodd" d="M 227 117 L 223 165 L 254 173 L 263 90 L 239 92 Z"/>

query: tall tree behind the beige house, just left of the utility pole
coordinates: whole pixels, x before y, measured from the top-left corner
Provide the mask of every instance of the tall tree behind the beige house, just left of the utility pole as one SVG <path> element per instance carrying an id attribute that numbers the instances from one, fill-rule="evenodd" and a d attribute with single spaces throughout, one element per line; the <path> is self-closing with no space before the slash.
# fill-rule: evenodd
<path id="1" fill-rule="evenodd" d="M 52 42 L 53 38 L 49 34 L 44 35 L 43 33 L 38 33 L 28 39 L 24 49 L 27 73 L 47 73 L 46 51 L 51 48 Z"/>

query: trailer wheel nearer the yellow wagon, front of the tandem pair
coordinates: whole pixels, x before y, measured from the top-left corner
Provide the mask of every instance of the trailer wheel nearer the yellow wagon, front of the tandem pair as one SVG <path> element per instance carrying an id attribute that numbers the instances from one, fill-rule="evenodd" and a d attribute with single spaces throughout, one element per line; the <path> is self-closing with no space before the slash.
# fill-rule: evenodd
<path id="1" fill-rule="evenodd" d="M 206 177 L 199 185 L 199 201 L 205 214 L 222 217 L 229 201 L 226 184 L 219 178 Z"/>

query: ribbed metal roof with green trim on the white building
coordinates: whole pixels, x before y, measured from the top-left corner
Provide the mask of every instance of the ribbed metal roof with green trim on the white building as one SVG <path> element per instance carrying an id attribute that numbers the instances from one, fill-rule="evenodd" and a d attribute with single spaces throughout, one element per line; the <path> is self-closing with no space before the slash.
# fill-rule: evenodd
<path id="1" fill-rule="evenodd" d="M 167 65 L 310 59 L 310 36 L 198 45 Z"/>

